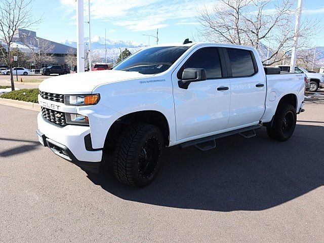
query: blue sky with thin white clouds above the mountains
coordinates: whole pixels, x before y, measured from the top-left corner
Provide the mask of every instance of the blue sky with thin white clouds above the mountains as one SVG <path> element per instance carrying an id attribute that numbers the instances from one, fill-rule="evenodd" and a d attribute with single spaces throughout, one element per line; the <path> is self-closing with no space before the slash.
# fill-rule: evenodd
<path id="1" fill-rule="evenodd" d="M 280 1 L 280 0 L 279 0 Z M 88 0 L 84 0 L 85 8 Z M 182 42 L 191 37 L 199 27 L 195 15 L 197 7 L 215 3 L 212 0 L 130 0 L 110 1 L 91 0 L 91 35 L 105 35 L 107 38 L 135 41 L 147 44 L 147 36 L 156 35 L 159 28 L 159 43 Z M 76 39 L 75 0 L 34 0 L 33 15 L 41 17 L 43 22 L 34 27 L 37 35 L 61 42 Z M 303 17 L 316 18 L 322 29 L 314 43 L 324 46 L 324 1 L 304 0 Z M 85 13 L 87 19 L 87 13 Z M 85 24 L 85 37 L 88 36 L 88 24 Z M 151 44 L 154 38 L 150 39 Z"/>

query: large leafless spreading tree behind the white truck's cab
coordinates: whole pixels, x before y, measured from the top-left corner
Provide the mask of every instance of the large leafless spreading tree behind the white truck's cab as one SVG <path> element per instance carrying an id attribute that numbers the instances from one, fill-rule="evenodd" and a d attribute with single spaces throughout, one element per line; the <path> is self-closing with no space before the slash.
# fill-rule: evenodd
<path id="1" fill-rule="evenodd" d="M 296 0 L 220 0 L 204 6 L 197 17 L 200 36 L 207 41 L 255 47 L 264 65 L 283 60 L 295 36 Z M 271 9 L 270 9 L 271 8 Z M 318 21 L 307 18 L 298 33 L 298 48 L 311 46 Z M 270 45 L 269 56 L 266 45 Z"/>

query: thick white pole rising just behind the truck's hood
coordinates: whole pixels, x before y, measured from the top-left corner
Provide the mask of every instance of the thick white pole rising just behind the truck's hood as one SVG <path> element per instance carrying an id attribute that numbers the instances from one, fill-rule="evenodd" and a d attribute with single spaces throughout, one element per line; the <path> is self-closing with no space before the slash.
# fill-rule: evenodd
<path id="1" fill-rule="evenodd" d="M 83 0 L 76 0 L 76 65 L 77 72 L 85 71 L 85 30 Z"/>

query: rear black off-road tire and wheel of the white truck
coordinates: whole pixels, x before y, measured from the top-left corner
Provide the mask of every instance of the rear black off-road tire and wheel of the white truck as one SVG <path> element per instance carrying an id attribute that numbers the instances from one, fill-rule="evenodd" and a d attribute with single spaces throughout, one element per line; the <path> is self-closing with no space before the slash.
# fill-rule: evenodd
<path id="1" fill-rule="evenodd" d="M 296 127 L 296 110 L 290 104 L 279 104 L 274 115 L 272 127 L 267 126 L 268 136 L 277 141 L 286 141 L 294 133 Z"/>

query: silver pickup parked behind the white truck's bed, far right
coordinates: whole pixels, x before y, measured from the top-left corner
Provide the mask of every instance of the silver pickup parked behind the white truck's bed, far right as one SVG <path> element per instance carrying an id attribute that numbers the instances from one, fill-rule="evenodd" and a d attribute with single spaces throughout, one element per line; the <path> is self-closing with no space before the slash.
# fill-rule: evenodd
<path id="1" fill-rule="evenodd" d="M 290 72 L 290 66 L 288 65 L 277 65 L 282 72 Z M 309 72 L 303 67 L 295 67 L 295 72 L 298 73 L 306 73 L 309 78 L 309 91 L 315 92 L 318 88 L 324 88 L 324 74 L 317 72 Z"/>

